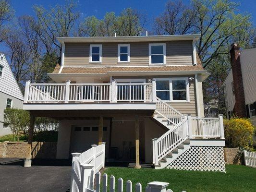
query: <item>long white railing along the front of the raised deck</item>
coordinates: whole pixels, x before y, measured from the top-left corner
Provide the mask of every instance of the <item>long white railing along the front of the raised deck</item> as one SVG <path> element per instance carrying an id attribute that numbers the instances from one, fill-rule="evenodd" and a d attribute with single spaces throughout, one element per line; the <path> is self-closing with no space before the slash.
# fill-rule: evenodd
<path id="1" fill-rule="evenodd" d="M 156 102 L 156 84 L 31 84 L 26 82 L 24 103 Z"/>

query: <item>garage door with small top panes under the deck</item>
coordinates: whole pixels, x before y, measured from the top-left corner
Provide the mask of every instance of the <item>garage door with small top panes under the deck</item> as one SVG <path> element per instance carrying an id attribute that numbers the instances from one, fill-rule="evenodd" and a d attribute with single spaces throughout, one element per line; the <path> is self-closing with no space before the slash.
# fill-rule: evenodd
<path id="1" fill-rule="evenodd" d="M 108 127 L 103 127 L 103 142 L 108 141 Z M 82 153 L 98 144 L 97 126 L 73 126 L 71 134 L 71 153 Z"/>

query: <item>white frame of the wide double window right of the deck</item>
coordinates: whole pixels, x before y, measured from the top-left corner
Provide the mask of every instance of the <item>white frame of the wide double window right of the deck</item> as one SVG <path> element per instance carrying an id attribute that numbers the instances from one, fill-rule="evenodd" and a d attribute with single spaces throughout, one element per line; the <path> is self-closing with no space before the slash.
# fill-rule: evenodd
<path id="1" fill-rule="evenodd" d="M 169 94 L 170 100 L 164 100 L 165 102 L 172 102 L 172 103 L 189 103 L 190 96 L 189 96 L 189 81 L 188 77 L 170 77 L 170 78 L 154 78 L 156 81 L 169 81 Z M 186 81 L 186 100 L 173 100 L 172 99 L 172 81 Z M 167 90 L 168 91 L 168 90 Z M 178 90 L 176 90 L 178 91 Z"/>

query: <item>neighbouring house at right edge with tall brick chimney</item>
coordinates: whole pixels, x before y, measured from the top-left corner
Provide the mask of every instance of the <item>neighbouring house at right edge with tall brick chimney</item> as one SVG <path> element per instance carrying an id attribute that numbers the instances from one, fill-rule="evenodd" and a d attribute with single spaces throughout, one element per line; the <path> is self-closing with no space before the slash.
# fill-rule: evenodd
<path id="1" fill-rule="evenodd" d="M 256 48 L 241 51 L 235 42 L 230 53 L 232 70 L 223 83 L 227 117 L 247 117 L 256 126 Z"/>

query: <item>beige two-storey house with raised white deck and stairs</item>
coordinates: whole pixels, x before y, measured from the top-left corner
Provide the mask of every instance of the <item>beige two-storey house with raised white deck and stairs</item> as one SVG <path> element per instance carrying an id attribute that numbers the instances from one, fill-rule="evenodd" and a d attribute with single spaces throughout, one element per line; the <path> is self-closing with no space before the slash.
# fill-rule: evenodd
<path id="1" fill-rule="evenodd" d="M 107 161 L 136 162 L 135 168 L 184 165 L 191 153 L 200 165 L 213 158 L 223 167 L 222 116 L 204 118 L 202 82 L 209 74 L 196 54 L 199 37 L 57 38 L 61 65 L 49 73 L 55 83 L 26 82 L 30 139 L 34 117 L 51 117 L 60 120 L 57 158 L 106 142 Z"/>

